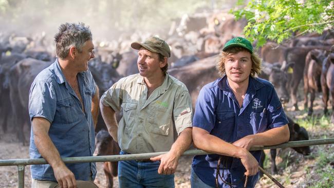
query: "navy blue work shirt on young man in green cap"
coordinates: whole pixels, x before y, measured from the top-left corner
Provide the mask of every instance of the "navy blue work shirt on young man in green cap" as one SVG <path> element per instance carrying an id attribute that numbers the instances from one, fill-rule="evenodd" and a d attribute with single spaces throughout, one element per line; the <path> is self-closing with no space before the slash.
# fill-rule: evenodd
<path id="1" fill-rule="evenodd" d="M 250 77 L 243 105 L 239 107 L 226 76 L 201 89 L 193 120 L 194 127 L 205 129 L 229 143 L 287 123 L 282 104 L 270 82 Z M 259 162 L 261 151 L 251 154 Z M 218 158 L 216 154 L 195 156 L 192 164 L 196 175 L 213 187 Z M 232 182 L 233 187 L 244 187 L 246 169 L 240 159 L 224 156 L 220 174 L 223 168 L 225 179 Z M 257 179 L 258 173 L 248 177 L 247 187 L 254 187 Z M 230 187 L 222 184 L 220 178 L 218 180 L 220 187 Z"/>

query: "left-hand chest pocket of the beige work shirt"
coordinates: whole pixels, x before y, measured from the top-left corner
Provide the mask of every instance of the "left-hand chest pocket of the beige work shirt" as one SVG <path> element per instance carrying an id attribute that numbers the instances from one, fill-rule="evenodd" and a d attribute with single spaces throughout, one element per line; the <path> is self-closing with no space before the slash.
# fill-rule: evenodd
<path id="1" fill-rule="evenodd" d="M 136 118 L 136 110 L 137 110 L 137 104 L 136 103 L 123 103 L 122 105 L 123 109 L 123 118 L 125 121 L 125 129 L 127 133 L 131 131 L 131 128 L 135 124 L 135 118 Z"/>

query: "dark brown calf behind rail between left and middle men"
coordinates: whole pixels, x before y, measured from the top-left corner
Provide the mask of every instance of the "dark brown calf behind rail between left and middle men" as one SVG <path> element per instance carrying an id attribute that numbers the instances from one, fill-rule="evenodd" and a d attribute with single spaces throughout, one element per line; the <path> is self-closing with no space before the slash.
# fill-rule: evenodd
<path id="1" fill-rule="evenodd" d="M 114 141 L 112 136 L 109 135 L 108 131 L 100 130 L 95 136 L 95 152 L 94 156 L 105 156 L 105 155 L 119 155 L 120 148 Z M 112 188 L 114 181 L 113 178 L 117 177 L 118 161 L 116 162 L 104 162 L 103 171 L 106 177 L 107 187 Z"/>

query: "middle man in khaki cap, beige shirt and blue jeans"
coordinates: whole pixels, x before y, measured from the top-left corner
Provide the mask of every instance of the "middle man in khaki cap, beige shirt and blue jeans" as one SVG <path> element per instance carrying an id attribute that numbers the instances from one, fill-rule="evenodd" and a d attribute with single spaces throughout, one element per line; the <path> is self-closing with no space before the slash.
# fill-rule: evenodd
<path id="1" fill-rule="evenodd" d="M 131 44 L 139 73 L 122 78 L 100 103 L 109 134 L 121 154 L 168 152 L 151 160 L 120 161 L 120 187 L 174 187 L 181 154 L 192 141 L 192 103 L 187 87 L 167 73 L 169 45 L 153 36 Z M 115 111 L 123 112 L 119 124 Z M 177 139 L 176 139 L 177 138 Z"/>

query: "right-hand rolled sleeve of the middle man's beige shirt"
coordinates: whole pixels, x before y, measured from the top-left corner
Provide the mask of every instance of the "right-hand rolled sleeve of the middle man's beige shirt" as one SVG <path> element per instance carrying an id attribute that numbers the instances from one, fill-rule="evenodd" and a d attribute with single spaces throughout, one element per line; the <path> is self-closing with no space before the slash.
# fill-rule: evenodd
<path id="1" fill-rule="evenodd" d="M 176 93 L 173 115 L 178 135 L 180 135 L 185 128 L 192 126 L 192 102 L 188 90 L 181 90 Z"/>

